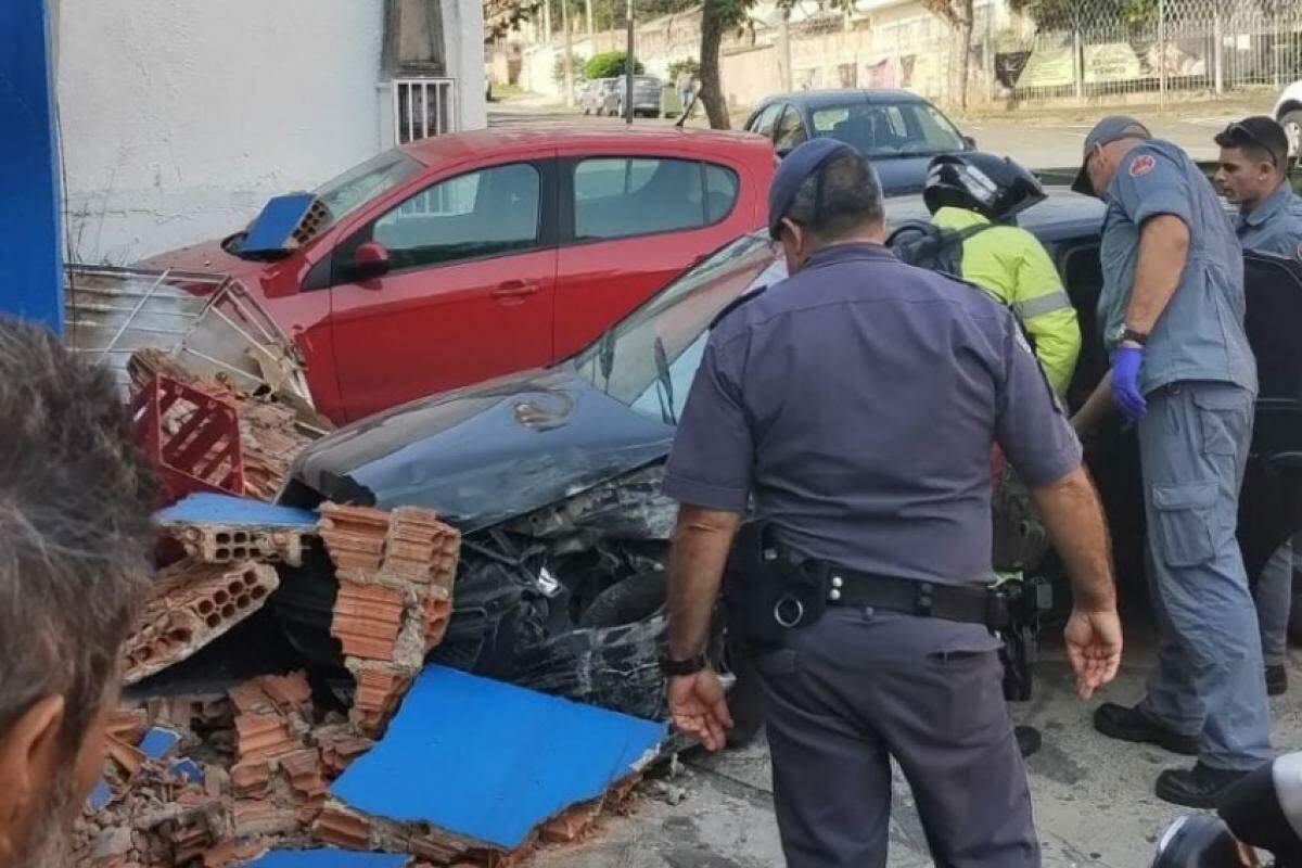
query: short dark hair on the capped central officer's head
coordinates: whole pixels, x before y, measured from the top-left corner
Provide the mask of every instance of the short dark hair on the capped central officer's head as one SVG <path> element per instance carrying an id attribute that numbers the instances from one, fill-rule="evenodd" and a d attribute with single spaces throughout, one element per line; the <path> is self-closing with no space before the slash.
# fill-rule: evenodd
<path id="1" fill-rule="evenodd" d="M 805 178 L 785 216 L 829 242 L 881 223 L 883 215 L 876 169 L 868 157 L 846 150 Z"/>

